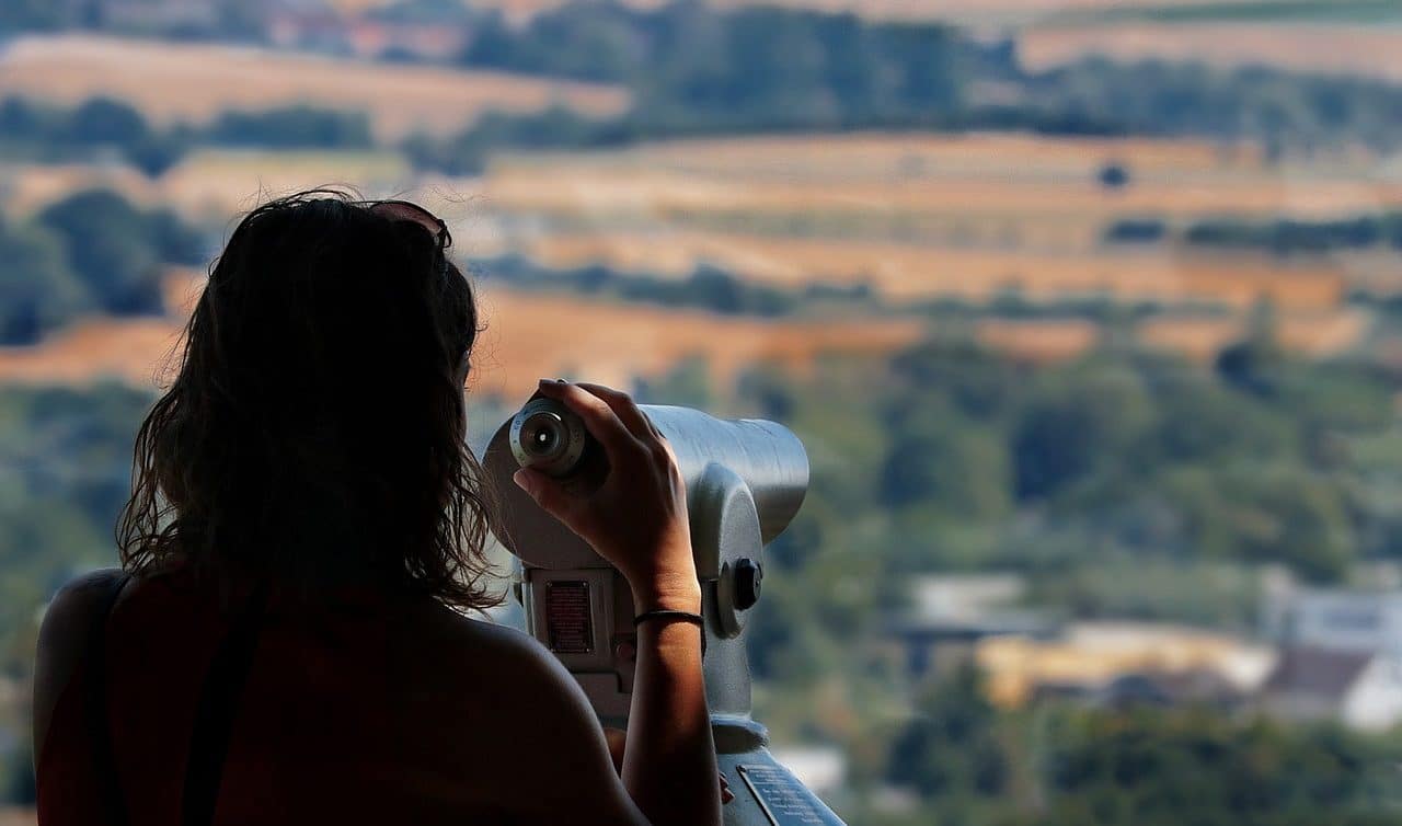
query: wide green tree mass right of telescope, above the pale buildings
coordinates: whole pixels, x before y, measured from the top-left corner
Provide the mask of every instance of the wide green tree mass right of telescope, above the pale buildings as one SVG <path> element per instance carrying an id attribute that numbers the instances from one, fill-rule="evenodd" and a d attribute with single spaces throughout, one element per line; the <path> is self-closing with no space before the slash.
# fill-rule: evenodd
<path id="1" fill-rule="evenodd" d="M 1172 618 L 1169 600 L 1116 599 L 1082 571 L 1279 562 L 1335 581 L 1395 555 L 1388 467 L 1356 447 L 1396 436 L 1395 380 L 1298 360 L 1269 335 L 1267 318 L 1216 369 L 1130 344 L 1032 370 L 932 339 L 885 369 L 751 373 L 739 412 L 785 421 L 812 463 L 796 536 L 774 554 L 803 571 L 815 554 L 861 548 L 880 560 L 876 582 L 1026 571 L 1047 604 L 1158 618 Z M 1249 588 L 1227 576 L 1178 618 L 1241 621 Z"/>

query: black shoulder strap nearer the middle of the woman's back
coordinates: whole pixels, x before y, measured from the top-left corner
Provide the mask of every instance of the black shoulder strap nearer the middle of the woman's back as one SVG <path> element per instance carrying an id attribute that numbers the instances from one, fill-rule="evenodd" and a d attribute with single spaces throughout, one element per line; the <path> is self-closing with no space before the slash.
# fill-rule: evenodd
<path id="1" fill-rule="evenodd" d="M 238 697 L 258 651 L 268 595 L 258 586 L 244 611 L 234 617 L 229 634 L 215 652 L 195 705 L 195 729 L 191 733 L 185 767 L 185 794 L 181 798 L 182 826 L 209 826 L 215 822 L 215 804 L 229 756 L 229 740 L 238 712 Z"/>

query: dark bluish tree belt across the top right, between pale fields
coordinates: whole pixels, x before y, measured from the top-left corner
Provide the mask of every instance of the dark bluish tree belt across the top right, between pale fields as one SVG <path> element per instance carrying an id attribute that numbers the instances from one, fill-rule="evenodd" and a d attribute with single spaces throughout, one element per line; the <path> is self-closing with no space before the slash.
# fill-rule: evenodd
<path id="1" fill-rule="evenodd" d="M 1402 111 L 1402 88 L 1380 81 L 1099 57 L 1029 73 L 1011 42 L 942 24 L 777 7 L 718 11 L 688 0 L 652 10 L 575 1 L 519 28 L 488 14 L 461 63 L 618 83 L 632 91 L 634 107 L 607 122 L 499 115 L 449 142 L 415 139 L 407 149 L 416 165 L 464 174 L 506 149 L 864 128 L 1196 135 L 1255 140 L 1274 157 L 1340 142 L 1395 146 Z M 977 84 L 995 86 L 998 102 L 970 94 Z M 1112 163 L 1099 180 L 1123 188 L 1134 175 Z"/>

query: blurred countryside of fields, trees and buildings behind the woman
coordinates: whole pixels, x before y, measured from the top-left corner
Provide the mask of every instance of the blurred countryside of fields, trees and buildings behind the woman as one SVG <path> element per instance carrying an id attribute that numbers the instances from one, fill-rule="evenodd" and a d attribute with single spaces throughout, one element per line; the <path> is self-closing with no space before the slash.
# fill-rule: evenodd
<path id="1" fill-rule="evenodd" d="M 0 0 L 0 825 L 209 261 L 320 185 L 449 222 L 472 439 L 803 439 L 756 718 L 850 823 L 1402 822 L 1395 0 Z"/>

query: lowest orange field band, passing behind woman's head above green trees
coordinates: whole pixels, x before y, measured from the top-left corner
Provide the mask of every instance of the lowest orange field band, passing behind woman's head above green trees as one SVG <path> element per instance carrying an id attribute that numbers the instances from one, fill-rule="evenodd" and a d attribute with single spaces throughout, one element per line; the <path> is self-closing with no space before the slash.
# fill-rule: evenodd
<path id="1" fill-rule="evenodd" d="M 142 387 L 170 377 L 179 328 L 203 283 L 200 273 L 174 271 L 165 282 L 167 318 L 91 318 L 36 346 L 0 348 L 0 384 L 87 384 L 116 379 Z M 491 285 L 479 292 L 486 330 L 478 339 L 474 393 L 524 398 L 541 376 L 573 373 L 625 386 L 700 356 L 712 379 L 729 381 L 757 362 L 802 373 L 823 353 L 885 356 L 931 330 L 918 320 L 773 321 L 690 310 L 613 304 Z M 1367 330 L 1359 310 L 1281 311 L 1281 342 L 1312 356 L 1346 351 Z M 568 331 L 568 332 L 562 332 Z M 1206 360 L 1244 335 L 1246 314 L 1220 318 L 1151 318 L 1143 341 Z M 1029 363 L 1075 358 L 1101 331 L 1084 320 L 983 320 L 972 334 Z"/>

